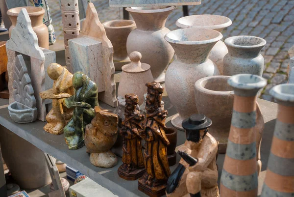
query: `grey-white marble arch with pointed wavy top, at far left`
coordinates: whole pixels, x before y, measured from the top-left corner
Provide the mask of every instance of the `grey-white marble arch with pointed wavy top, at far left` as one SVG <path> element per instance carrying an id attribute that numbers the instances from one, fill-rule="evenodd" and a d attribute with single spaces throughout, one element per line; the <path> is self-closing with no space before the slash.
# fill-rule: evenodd
<path id="1" fill-rule="evenodd" d="M 21 10 L 17 18 L 16 27 L 11 31 L 11 37 L 6 43 L 6 53 L 8 56 L 7 71 L 9 76 L 9 103 L 14 102 L 12 96 L 12 84 L 15 57 L 20 54 L 28 56 L 30 59 L 30 65 L 28 65 L 28 63 L 26 63 L 26 65 L 37 101 L 37 118 L 41 121 L 46 121 L 47 112 L 45 105 L 51 103 L 51 100 L 45 101 L 41 99 L 39 93 L 52 87 L 52 80 L 48 77 L 46 78 L 47 67 L 49 63 L 55 62 L 56 56 L 55 52 L 39 47 L 37 35 L 33 31 L 30 18 L 24 8 Z"/>

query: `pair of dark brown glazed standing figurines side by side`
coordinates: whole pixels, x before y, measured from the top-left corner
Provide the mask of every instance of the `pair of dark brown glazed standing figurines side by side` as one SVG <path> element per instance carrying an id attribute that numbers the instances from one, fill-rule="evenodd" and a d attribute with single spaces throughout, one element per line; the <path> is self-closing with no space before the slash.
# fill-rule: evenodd
<path id="1" fill-rule="evenodd" d="M 123 136 L 123 165 L 118 173 L 126 180 L 136 180 L 144 174 L 139 179 L 139 190 L 147 194 L 158 193 L 159 190 L 162 193 L 171 174 L 167 156 L 170 142 L 165 134 L 167 111 L 160 105 L 163 87 L 156 82 L 146 85 L 146 117 L 136 109 L 138 96 L 125 95 L 125 118 L 120 131 Z M 146 141 L 144 153 L 142 139 Z"/>

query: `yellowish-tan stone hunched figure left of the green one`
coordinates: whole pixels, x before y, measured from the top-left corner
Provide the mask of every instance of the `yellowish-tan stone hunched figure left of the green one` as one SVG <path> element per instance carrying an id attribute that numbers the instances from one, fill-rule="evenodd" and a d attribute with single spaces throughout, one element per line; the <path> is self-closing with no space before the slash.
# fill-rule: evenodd
<path id="1" fill-rule="evenodd" d="M 48 123 L 44 130 L 60 135 L 73 116 L 73 109 L 63 105 L 64 99 L 73 95 L 73 74 L 57 63 L 51 63 L 47 73 L 54 83 L 51 89 L 40 93 L 42 99 L 52 99 L 52 109 L 46 116 Z"/>

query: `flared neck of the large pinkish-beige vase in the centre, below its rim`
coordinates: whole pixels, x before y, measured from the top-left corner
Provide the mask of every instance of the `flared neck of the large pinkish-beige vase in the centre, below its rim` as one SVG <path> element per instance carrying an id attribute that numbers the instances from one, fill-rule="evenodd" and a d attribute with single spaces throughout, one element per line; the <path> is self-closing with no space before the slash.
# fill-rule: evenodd
<path id="1" fill-rule="evenodd" d="M 174 49 L 177 60 L 187 64 L 201 64 L 207 60 L 209 52 L 216 42 L 196 45 L 170 44 Z"/>

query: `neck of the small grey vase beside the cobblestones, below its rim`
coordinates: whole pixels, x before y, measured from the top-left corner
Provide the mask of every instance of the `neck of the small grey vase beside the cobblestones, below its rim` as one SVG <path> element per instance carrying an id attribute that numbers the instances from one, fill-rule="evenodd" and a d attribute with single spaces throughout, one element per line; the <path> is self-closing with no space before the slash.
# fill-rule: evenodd
<path id="1" fill-rule="evenodd" d="M 251 47 L 251 48 L 242 48 L 241 47 L 234 47 L 227 45 L 228 53 L 230 56 L 237 57 L 237 58 L 254 58 L 260 55 L 260 51 L 262 50 L 263 46 L 260 47 Z"/>

